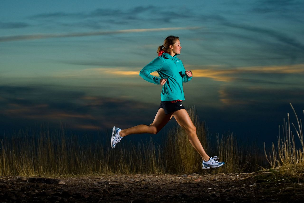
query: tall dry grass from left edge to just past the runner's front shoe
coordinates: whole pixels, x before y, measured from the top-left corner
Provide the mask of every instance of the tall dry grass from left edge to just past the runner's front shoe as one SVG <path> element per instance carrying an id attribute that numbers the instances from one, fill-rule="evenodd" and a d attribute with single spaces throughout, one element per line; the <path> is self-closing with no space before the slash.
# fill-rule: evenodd
<path id="1" fill-rule="evenodd" d="M 30 175 L 93 175 L 111 173 L 242 173 L 254 168 L 250 151 L 238 145 L 234 136 L 217 136 L 217 145 L 207 142 L 208 131 L 194 108 L 188 113 L 197 128 L 197 135 L 210 155 L 217 155 L 226 165 L 202 170 L 202 158 L 188 140 L 185 130 L 176 125 L 165 142 L 157 145 L 152 139 L 131 143 L 124 140 L 116 149 L 109 146 L 110 135 L 91 136 L 67 134 L 64 127 L 51 132 L 41 126 L 39 131 L 27 129 L 1 140 L 0 174 Z M 216 149 L 216 150 L 213 150 Z M 247 160 L 247 161 L 246 161 Z"/>

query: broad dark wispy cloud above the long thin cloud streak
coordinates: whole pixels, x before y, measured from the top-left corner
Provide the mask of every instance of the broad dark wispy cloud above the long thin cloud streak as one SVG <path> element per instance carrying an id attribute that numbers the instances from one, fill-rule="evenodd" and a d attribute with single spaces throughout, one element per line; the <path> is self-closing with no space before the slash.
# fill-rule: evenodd
<path id="1" fill-rule="evenodd" d="M 180 12 L 180 10 L 183 12 Z M 43 21 L 45 23 L 54 23 L 54 26 L 74 26 L 74 27 L 91 27 L 100 29 L 101 27 L 111 27 L 112 25 L 127 25 L 134 23 L 137 25 L 147 25 L 154 23 L 168 24 L 176 19 L 195 18 L 191 9 L 181 8 L 178 6 L 156 7 L 135 6 L 130 9 L 98 8 L 91 12 L 53 12 L 42 13 L 30 16 L 31 20 Z M 69 20 L 71 23 L 63 23 Z M 73 22 L 74 21 L 74 22 Z M 86 23 L 85 23 L 86 22 Z M 91 22 L 91 23 L 88 23 Z M 166 25 L 164 25 L 166 26 Z"/>

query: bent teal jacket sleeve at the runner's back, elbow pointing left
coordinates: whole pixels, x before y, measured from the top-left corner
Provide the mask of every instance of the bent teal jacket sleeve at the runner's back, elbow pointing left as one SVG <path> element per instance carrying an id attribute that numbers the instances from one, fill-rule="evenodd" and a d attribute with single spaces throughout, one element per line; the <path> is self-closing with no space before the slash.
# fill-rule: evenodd
<path id="1" fill-rule="evenodd" d="M 151 61 L 148 65 L 143 67 L 141 71 L 139 72 L 140 77 L 145 79 L 148 82 L 152 82 L 156 85 L 159 85 L 161 79 L 151 75 L 151 72 L 160 70 L 163 66 L 163 60 L 160 57 L 155 58 L 153 61 Z"/>

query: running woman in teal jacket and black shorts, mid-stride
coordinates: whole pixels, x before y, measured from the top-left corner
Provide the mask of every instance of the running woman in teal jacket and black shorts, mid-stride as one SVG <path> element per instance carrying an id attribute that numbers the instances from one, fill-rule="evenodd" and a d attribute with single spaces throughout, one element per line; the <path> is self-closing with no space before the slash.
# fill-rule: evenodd
<path id="1" fill-rule="evenodd" d="M 116 144 L 127 135 L 157 134 L 174 117 L 187 132 L 192 146 L 202 156 L 202 168 L 210 169 L 223 166 L 225 162 L 218 162 L 217 156 L 212 158 L 205 152 L 196 135 L 196 128 L 182 104 L 182 101 L 185 100 L 183 82 L 189 82 L 192 79 L 192 72 L 190 70 L 186 71 L 181 60 L 176 57 L 181 53 L 179 37 L 168 36 L 164 40 L 164 45 L 158 47 L 157 53 L 158 57 L 139 72 L 139 75 L 146 81 L 163 86 L 161 104 L 154 121 L 150 125 L 140 124 L 128 129 L 120 129 L 114 126 L 111 147 L 115 148 Z M 160 78 L 150 74 L 154 71 L 157 71 Z"/>

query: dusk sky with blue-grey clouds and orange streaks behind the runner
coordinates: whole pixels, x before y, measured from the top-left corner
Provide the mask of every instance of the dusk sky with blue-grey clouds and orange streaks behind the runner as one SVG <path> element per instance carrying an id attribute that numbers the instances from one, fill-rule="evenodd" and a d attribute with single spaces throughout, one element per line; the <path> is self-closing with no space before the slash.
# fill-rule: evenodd
<path id="1" fill-rule="evenodd" d="M 289 102 L 303 118 L 303 8 L 300 0 L 1 1 L 0 133 L 150 124 L 162 86 L 138 74 L 174 35 L 193 72 L 184 106 L 213 135 L 276 142 L 287 113 L 296 122 Z"/>

